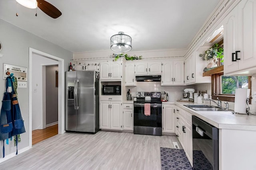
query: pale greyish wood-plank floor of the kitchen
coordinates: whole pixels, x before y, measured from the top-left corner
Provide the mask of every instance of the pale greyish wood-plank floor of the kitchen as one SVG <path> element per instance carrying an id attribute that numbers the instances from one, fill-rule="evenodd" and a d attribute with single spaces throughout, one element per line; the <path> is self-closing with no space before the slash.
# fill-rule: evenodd
<path id="1" fill-rule="evenodd" d="M 99 131 L 64 133 L 0 164 L 15 170 L 161 170 L 160 147 L 174 148 L 176 136 Z"/>

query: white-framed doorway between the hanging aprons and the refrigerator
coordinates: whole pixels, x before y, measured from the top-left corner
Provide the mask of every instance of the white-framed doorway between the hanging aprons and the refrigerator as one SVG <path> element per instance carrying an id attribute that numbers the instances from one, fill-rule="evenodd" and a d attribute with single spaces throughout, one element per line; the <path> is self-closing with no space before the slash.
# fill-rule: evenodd
<path id="1" fill-rule="evenodd" d="M 32 130 L 41 138 L 52 134 L 64 133 L 64 59 L 29 48 L 29 147 L 32 147 Z M 57 66 L 54 72 L 47 78 L 47 67 Z M 46 78 L 53 78 L 55 92 L 55 110 L 48 109 L 47 103 L 50 92 L 47 95 Z M 45 80 L 45 81 L 44 81 Z M 58 87 L 56 87 L 58 86 Z M 53 87 L 49 88 L 52 89 Z M 53 89 L 54 89 L 53 88 Z M 48 99 L 47 99 L 48 98 Z M 51 103 L 51 102 L 50 102 Z M 51 106 L 48 106 L 50 108 Z M 48 117 L 47 112 L 57 112 L 53 117 Z M 50 113 L 51 114 L 51 113 Z M 47 118 L 48 117 L 48 118 Z M 48 120 L 47 120 L 48 119 Z M 49 121 L 50 120 L 50 121 Z M 53 136 L 53 135 L 52 135 Z M 44 140 L 44 139 L 43 139 Z M 33 141 L 34 144 L 34 141 Z"/>

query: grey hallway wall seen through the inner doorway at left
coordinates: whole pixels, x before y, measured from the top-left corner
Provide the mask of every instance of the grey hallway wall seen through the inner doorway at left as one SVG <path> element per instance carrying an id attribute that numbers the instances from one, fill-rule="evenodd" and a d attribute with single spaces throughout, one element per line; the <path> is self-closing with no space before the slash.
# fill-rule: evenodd
<path id="1" fill-rule="evenodd" d="M 58 66 L 46 66 L 46 126 L 58 122 L 58 87 L 55 72 Z"/>

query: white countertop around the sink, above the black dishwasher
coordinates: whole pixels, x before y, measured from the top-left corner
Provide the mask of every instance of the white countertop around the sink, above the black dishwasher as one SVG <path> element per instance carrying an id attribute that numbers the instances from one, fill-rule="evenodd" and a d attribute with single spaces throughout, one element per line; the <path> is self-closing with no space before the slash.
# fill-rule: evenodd
<path id="1" fill-rule="evenodd" d="M 219 129 L 256 131 L 256 115 L 233 114 L 231 111 L 194 111 L 183 106 L 194 105 L 193 102 L 175 102 L 175 104 Z"/>

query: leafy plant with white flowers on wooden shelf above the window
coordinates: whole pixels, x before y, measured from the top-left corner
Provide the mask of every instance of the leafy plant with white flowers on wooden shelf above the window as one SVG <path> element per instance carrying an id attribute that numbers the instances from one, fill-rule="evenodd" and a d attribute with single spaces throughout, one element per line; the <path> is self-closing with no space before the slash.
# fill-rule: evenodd
<path id="1" fill-rule="evenodd" d="M 202 57 L 203 60 L 219 58 L 220 62 L 223 63 L 223 48 L 215 43 L 211 48 L 207 49 L 204 54 L 200 54 L 199 57 Z"/>

